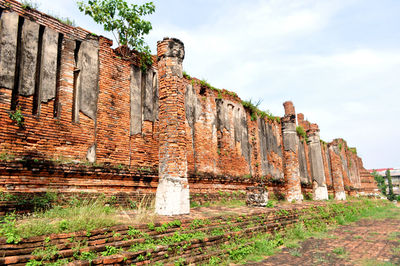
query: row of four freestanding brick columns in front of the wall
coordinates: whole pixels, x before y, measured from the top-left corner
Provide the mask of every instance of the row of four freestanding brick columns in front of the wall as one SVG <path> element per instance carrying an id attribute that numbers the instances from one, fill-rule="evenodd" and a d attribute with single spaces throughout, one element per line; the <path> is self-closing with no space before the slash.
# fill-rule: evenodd
<path id="1" fill-rule="evenodd" d="M 185 87 L 182 79 L 184 45 L 173 38 L 157 43 L 159 82 L 159 185 L 156 193 L 156 213 L 178 215 L 190 212 L 187 179 L 187 150 L 185 133 Z M 293 103 L 284 104 L 282 118 L 284 176 L 286 200 L 302 201 L 299 169 L 299 137 Z M 328 199 L 318 125 L 307 128 L 311 174 L 315 200 Z M 336 150 L 335 150 L 336 149 Z M 336 146 L 329 147 L 336 199 L 344 199 L 340 156 Z"/>

